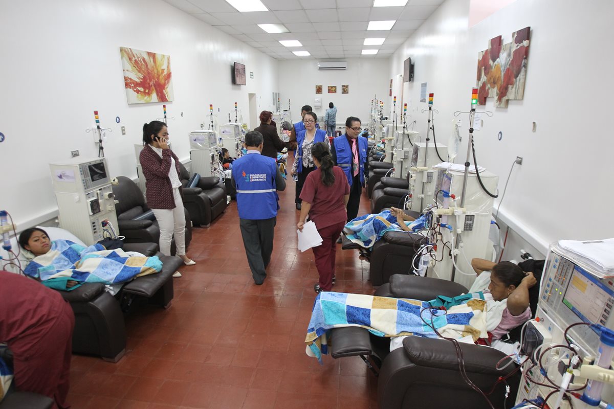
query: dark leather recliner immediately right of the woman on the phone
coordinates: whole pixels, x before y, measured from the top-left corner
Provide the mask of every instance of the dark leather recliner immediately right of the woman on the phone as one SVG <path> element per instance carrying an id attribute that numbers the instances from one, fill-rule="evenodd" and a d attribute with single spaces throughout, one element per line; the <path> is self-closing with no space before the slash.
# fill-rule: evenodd
<path id="1" fill-rule="evenodd" d="M 221 215 L 227 207 L 226 186 L 220 182 L 219 177 L 201 177 L 195 187 L 187 188 L 190 181 L 190 172 L 180 162 L 181 171 L 179 179 L 183 186 L 184 207 L 190 213 L 195 226 L 209 227 L 211 221 Z"/>

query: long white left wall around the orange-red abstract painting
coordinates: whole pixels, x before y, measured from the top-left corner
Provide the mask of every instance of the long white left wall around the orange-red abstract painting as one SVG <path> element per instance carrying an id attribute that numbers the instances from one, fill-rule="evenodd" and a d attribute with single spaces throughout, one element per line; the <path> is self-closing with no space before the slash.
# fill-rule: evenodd
<path id="1" fill-rule="evenodd" d="M 1 9 L 0 208 L 18 228 L 53 217 L 49 162 L 69 158 L 71 150 L 97 155 L 85 132 L 93 110 L 113 130 L 104 143 L 112 175 L 136 176 L 133 145 L 145 122 L 162 117 L 162 104 L 127 104 L 120 47 L 171 56 L 174 101 L 166 105 L 180 159 L 188 158 L 187 134 L 207 121 L 209 104 L 225 122 L 236 101 L 247 121 L 247 93 L 257 94 L 260 109 L 271 109 L 278 90 L 276 60 L 161 0 L 2 0 Z M 234 61 L 246 65 L 246 86 L 231 84 Z"/>

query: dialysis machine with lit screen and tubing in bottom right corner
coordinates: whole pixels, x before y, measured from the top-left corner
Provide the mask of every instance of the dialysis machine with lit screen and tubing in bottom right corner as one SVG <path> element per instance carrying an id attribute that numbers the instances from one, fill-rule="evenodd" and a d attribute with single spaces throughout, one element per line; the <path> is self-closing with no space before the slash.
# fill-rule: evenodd
<path id="1" fill-rule="evenodd" d="M 546 402 L 550 408 L 612 407 L 604 403 L 614 403 L 614 371 L 610 370 L 614 348 L 612 333 L 599 331 L 594 326 L 578 325 L 569 329 L 567 340 L 564 336 L 565 329 L 575 323 L 614 329 L 614 280 L 600 277 L 603 276 L 569 251 L 559 245 L 551 247 L 542 274 L 536 319 L 524 329 L 522 352 L 530 358 L 523 364 L 523 379 L 516 403 L 524 399 L 543 400 L 554 392 Z M 582 359 L 581 366 L 576 362 L 575 368 L 569 369 L 570 361 L 572 364 L 577 361 L 572 357 L 576 354 Z M 596 357 L 593 365 L 589 357 Z M 605 383 L 592 380 L 587 388 L 581 389 L 587 378 L 599 378 Z M 540 385 L 551 385 L 550 381 L 558 387 Z M 568 393 L 570 405 L 567 400 L 562 400 L 562 395 L 559 397 L 558 389 L 564 392 L 565 389 L 580 390 L 577 396 Z M 600 399 L 603 399 L 602 403 L 599 403 Z"/>

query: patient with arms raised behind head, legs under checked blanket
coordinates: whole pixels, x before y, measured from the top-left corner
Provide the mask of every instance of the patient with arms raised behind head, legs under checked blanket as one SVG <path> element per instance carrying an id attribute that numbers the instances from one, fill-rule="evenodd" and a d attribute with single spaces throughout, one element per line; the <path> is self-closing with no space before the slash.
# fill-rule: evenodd
<path id="1" fill-rule="evenodd" d="M 471 337 L 475 343 L 490 343 L 530 319 L 529 288 L 537 283 L 533 273 L 524 273 L 509 261 L 495 264 L 473 259 L 472 265 L 478 272 L 477 284 L 467 295 L 445 302 L 443 297 L 426 302 L 320 293 L 305 338 L 307 354 L 322 362 L 321 354 L 327 354 L 328 349 L 327 333 L 335 327 L 363 327 L 378 337 L 389 337 L 392 350 L 393 341 L 398 343 L 406 335 L 437 338 L 435 329 L 443 337 Z M 488 269 L 491 273 L 486 272 Z M 487 287 L 479 289 L 484 285 Z M 478 292 L 472 292 L 475 288 Z"/>

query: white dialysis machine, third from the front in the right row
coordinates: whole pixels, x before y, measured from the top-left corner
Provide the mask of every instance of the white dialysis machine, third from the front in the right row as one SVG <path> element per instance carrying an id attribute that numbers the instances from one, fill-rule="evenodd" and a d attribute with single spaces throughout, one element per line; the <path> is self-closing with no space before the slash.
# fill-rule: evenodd
<path id="1" fill-rule="evenodd" d="M 448 148 L 445 145 L 438 145 L 437 150 L 440 151 L 441 155 L 448 156 Z M 433 166 L 439 162 L 435 145 L 429 145 L 426 142 L 414 143 L 411 150 L 411 166 L 408 169 L 410 174 L 410 210 L 422 213 L 427 205 L 433 204 L 433 199 L 435 199 L 433 195 L 439 190 L 436 187 L 438 172 L 433 169 Z"/>

